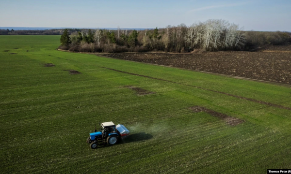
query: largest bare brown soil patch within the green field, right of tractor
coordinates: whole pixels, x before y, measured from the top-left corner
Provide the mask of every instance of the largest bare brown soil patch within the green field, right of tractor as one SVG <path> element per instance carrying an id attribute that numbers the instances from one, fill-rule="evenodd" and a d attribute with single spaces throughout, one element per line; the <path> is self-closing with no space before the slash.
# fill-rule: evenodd
<path id="1" fill-rule="evenodd" d="M 210 109 L 207 109 L 205 107 L 201 107 L 201 106 L 194 106 L 194 107 L 191 107 L 189 108 L 191 109 L 192 111 L 198 113 L 198 112 L 206 112 L 208 114 L 210 114 L 211 116 L 215 116 L 215 117 L 218 117 L 222 120 L 224 120 L 226 122 L 226 124 L 228 125 L 231 125 L 231 126 L 236 126 L 238 124 L 241 124 L 244 122 L 244 120 L 241 120 L 239 118 L 235 118 L 235 117 L 232 117 L 232 116 L 227 116 L 225 114 L 222 114 L 222 113 L 219 113 L 219 112 L 216 112 L 216 111 L 212 111 Z"/>

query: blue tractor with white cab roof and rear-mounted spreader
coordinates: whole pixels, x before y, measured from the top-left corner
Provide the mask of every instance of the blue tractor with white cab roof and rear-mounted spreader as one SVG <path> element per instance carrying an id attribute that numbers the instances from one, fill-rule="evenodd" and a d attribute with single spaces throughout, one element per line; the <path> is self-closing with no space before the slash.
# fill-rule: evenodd
<path id="1" fill-rule="evenodd" d="M 90 136 L 87 138 L 87 143 L 90 144 L 90 147 L 96 149 L 98 145 L 115 145 L 119 139 L 129 135 L 129 130 L 126 129 L 123 125 L 116 125 L 110 121 L 100 124 L 100 130 L 90 133 Z"/>

